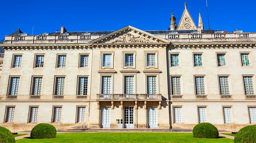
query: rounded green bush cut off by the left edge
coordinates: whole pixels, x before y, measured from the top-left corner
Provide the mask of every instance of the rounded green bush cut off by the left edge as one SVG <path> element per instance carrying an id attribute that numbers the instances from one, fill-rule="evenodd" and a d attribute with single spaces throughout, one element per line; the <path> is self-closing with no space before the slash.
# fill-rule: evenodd
<path id="1" fill-rule="evenodd" d="M 0 126 L 0 143 L 15 143 L 15 138 L 11 131 Z"/>

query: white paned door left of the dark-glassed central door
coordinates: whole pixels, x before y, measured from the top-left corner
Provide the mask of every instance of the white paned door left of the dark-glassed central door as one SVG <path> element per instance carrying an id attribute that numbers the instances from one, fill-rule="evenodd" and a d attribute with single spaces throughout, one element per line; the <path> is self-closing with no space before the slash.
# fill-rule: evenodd
<path id="1" fill-rule="evenodd" d="M 101 128 L 110 128 L 110 107 L 101 108 Z"/>

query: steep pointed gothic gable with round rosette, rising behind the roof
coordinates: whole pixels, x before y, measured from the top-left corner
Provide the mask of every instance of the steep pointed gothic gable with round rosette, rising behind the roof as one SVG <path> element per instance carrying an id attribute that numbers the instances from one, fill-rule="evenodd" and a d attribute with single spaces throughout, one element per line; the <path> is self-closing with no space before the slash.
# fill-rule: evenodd
<path id="1" fill-rule="evenodd" d="M 187 8 L 183 11 L 177 30 L 197 30 L 196 24 Z"/>

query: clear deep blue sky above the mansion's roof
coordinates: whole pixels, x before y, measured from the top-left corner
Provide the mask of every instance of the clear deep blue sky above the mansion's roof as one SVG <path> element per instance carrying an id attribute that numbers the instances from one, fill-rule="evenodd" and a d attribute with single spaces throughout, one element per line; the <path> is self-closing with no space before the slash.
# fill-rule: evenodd
<path id="1" fill-rule="evenodd" d="M 127 25 L 142 30 L 167 30 L 171 10 L 180 20 L 185 0 L 3 0 L 0 5 L 0 39 L 18 27 L 34 35 L 68 31 L 117 30 Z M 201 12 L 208 28 L 206 0 L 186 0 L 196 25 Z M 255 0 L 208 0 L 213 30 L 256 31 Z"/>

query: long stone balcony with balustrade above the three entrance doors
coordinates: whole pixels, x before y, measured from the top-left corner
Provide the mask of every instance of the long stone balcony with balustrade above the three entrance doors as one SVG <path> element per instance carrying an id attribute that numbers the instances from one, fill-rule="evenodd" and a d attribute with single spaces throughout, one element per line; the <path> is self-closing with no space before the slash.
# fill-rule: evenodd
<path id="1" fill-rule="evenodd" d="M 123 101 L 123 100 L 131 100 L 131 101 L 161 101 L 161 94 L 97 94 L 97 101 Z"/>

